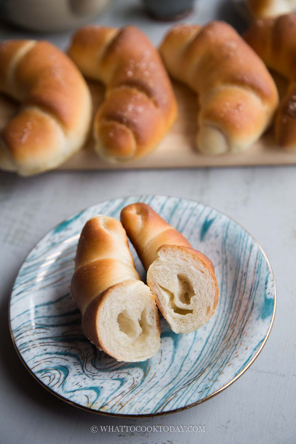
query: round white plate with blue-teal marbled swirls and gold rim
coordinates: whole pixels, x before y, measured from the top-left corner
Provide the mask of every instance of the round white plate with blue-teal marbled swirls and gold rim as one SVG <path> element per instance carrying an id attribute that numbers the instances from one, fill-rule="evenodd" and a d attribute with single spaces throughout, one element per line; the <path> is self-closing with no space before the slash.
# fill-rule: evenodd
<path id="1" fill-rule="evenodd" d="M 119 218 L 132 202 L 148 203 L 211 258 L 220 299 L 214 316 L 194 333 L 175 334 L 162 318 L 160 351 L 146 362 L 124 363 L 83 336 L 69 283 L 85 222 L 99 213 Z M 9 314 L 16 350 L 44 387 L 77 407 L 134 416 L 192 407 L 228 387 L 260 353 L 275 307 L 272 270 L 243 227 L 201 203 L 145 195 L 91 206 L 47 233 L 20 268 Z"/>

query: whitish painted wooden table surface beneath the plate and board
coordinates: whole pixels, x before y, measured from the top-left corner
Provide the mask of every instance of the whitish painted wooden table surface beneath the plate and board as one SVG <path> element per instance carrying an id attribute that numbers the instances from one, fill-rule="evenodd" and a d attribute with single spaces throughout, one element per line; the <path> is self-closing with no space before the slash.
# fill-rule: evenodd
<path id="1" fill-rule="evenodd" d="M 229 2 L 200 0 L 200 7 L 194 13 L 199 22 L 208 20 L 209 5 L 205 8 L 205 4 L 209 3 L 217 8 L 221 17 L 232 22 L 239 20 L 231 12 Z M 196 17 L 193 15 L 188 20 Z M 114 0 L 112 8 L 97 22 L 138 24 L 155 43 L 166 28 L 150 21 L 135 1 Z M 1 28 L 1 39 L 17 36 L 25 34 Z M 45 38 L 63 48 L 68 34 Z M 275 274 L 278 296 L 275 323 L 262 353 L 247 373 L 206 403 L 173 415 L 145 419 L 95 415 L 57 399 L 24 368 L 8 329 L 9 292 L 24 257 L 52 226 L 96 202 L 122 194 L 145 193 L 195 199 L 245 226 L 265 250 Z M 28 179 L 0 173 L 0 443 L 295 443 L 295 257 L 295 166 L 57 171 Z M 115 428 L 116 425 L 159 424 L 205 425 L 205 431 L 91 432 L 93 425 Z"/>

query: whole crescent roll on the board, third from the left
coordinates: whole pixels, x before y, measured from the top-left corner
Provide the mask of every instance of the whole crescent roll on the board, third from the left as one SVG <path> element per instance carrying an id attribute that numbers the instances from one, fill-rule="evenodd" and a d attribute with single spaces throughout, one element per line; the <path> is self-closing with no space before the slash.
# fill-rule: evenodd
<path id="1" fill-rule="evenodd" d="M 170 75 L 198 93 L 200 151 L 240 152 L 256 142 L 271 122 L 278 94 L 262 60 L 229 24 L 176 26 L 160 52 Z"/>

